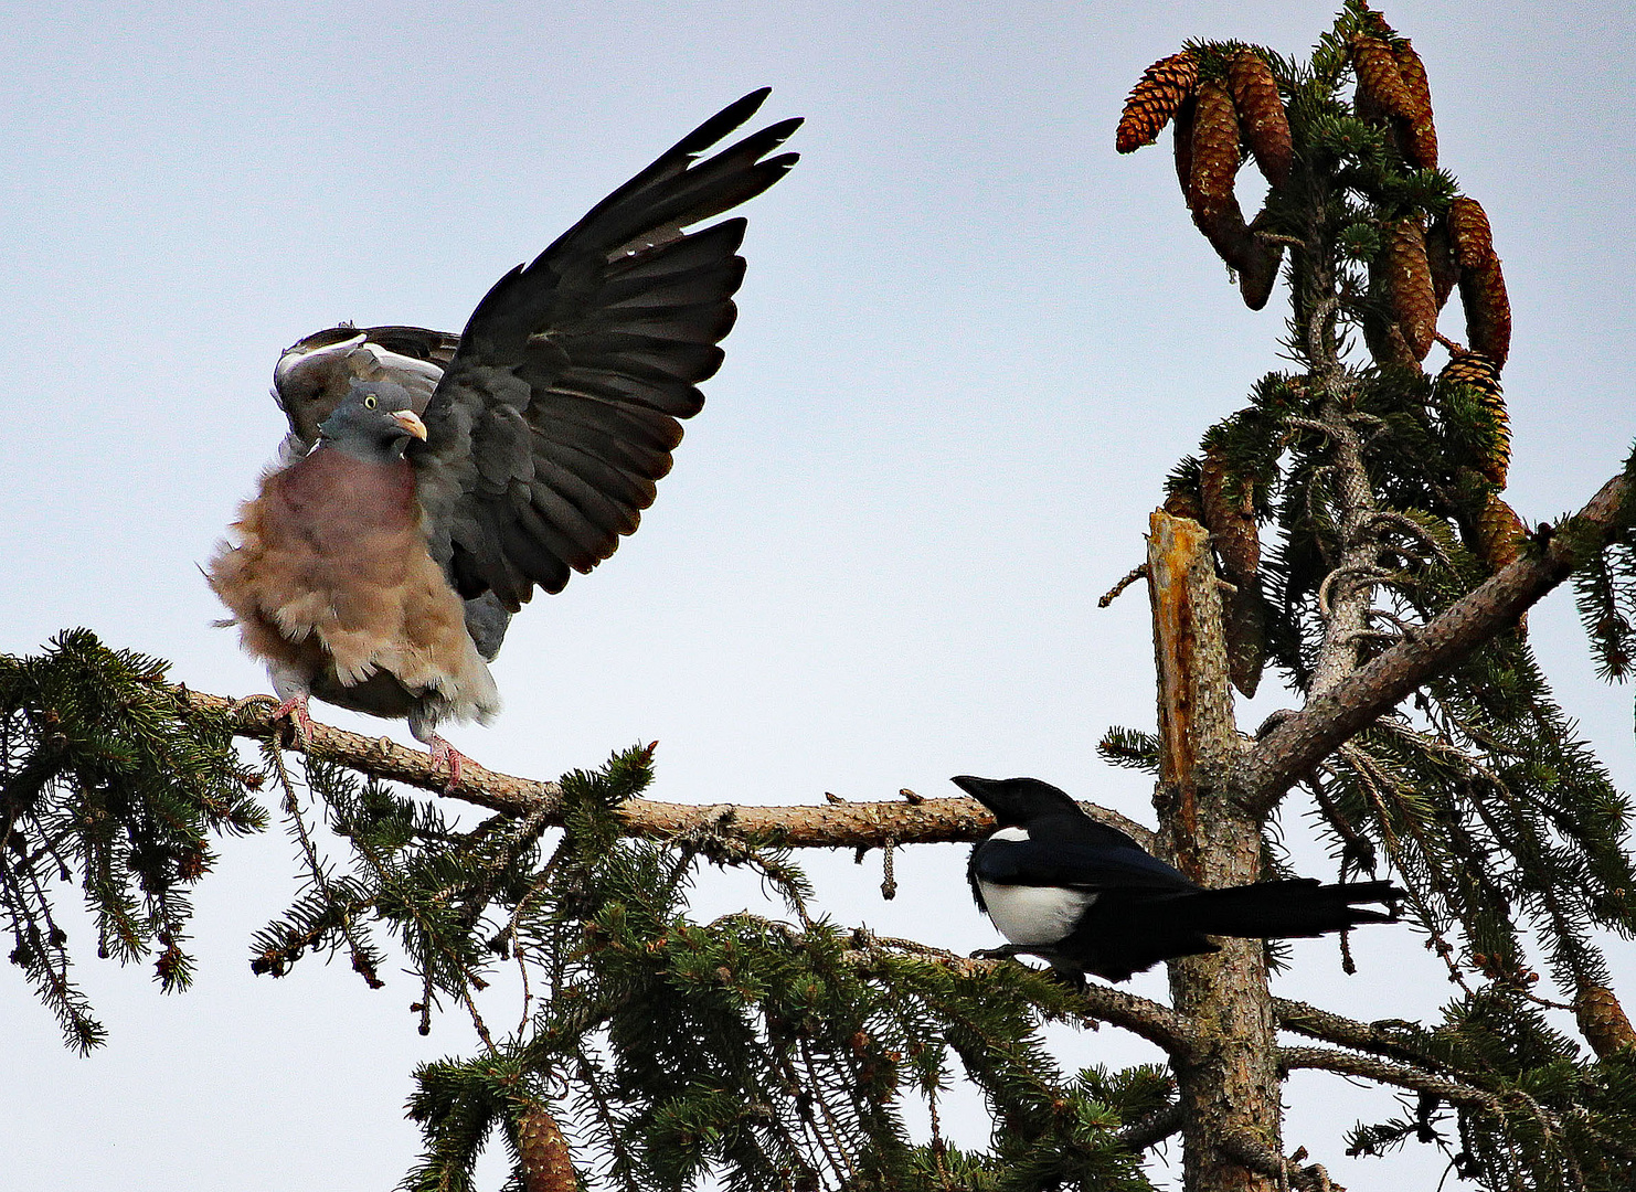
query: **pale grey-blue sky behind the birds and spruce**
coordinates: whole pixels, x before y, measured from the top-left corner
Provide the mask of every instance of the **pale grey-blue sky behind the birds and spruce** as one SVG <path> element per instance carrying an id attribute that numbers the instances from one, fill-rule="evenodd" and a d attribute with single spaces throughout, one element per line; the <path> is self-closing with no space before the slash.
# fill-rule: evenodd
<path id="1" fill-rule="evenodd" d="M 1494 221 L 1517 316 L 1510 499 L 1554 518 L 1636 435 L 1636 15 L 1384 11 L 1430 69 L 1445 165 Z M 535 777 L 658 739 L 654 795 L 681 801 L 1034 773 L 1152 822 L 1147 783 L 1094 754 L 1108 724 L 1152 724 L 1147 605 L 1094 602 L 1140 559 L 1170 466 L 1278 366 L 1283 286 L 1245 311 L 1188 221 L 1168 134 L 1121 159 L 1112 129 L 1183 38 L 1302 56 L 1332 16 L 1292 0 L 8 5 L 0 649 L 88 625 L 190 685 L 265 690 L 209 628 L 195 564 L 281 433 L 280 348 L 342 319 L 461 327 L 502 271 L 772 85 L 761 119 L 807 116 L 803 160 L 749 208 L 739 324 L 676 471 L 610 562 L 519 618 L 497 726 L 450 736 Z M 1629 693 L 1590 680 L 1566 594 L 1533 625 L 1629 786 Z M 409 1166 L 409 1069 L 470 1051 L 470 1027 L 420 1040 L 401 975 L 381 993 L 344 965 L 252 979 L 249 935 L 290 896 L 293 849 L 273 831 L 222 857 L 198 896 L 195 993 L 160 997 L 151 970 L 97 963 L 79 937 L 111 1028 L 92 1058 L 62 1051 L 18 973 L 0 979 L 18 1185 L 365 1189 Z M 875 862 L 861 880 L 811 860 L 846 921 L 995 940 L 959 849 L 900 862 L 897 903 Z M 1312 943 L 1279 988 L 1364 1017 L 1446 997 L 1430 966 L 1405 976 L 1418 937 L 1358 935 L 1358 978 Z M 1111 1028 L 1072 1048 L 1148 1056 Z M 1355 1192 L 1438 1169 L 1342 1158 L 1340 1128 L 1384 1094 L 1302 1078 L 1288 1099 L 1291 1146 Z"/>

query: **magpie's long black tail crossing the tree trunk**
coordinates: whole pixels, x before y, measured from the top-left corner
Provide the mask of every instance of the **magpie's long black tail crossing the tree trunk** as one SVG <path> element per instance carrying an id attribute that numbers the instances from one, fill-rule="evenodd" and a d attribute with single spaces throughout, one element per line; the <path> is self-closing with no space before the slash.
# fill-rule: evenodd
<path id="1" fill-rule="evenodd" d="M 1283 939 L 1324 935 L 1363 922 L 1396 922 L 1400 898 L 1404 891 L 1391 881 L 1324 886 L 1314 878 L 1289 878 L 1230 890 L 1201 890 L 1184 901 L 1188 925 L 1206 935 Z M 1368 911 L 1360 903 L 1381 903 L 1386 911 Z"/>

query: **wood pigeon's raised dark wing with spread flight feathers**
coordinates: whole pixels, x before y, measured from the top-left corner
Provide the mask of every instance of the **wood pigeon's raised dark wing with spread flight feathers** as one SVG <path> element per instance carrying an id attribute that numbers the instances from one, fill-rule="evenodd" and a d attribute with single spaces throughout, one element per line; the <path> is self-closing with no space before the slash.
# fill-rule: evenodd
<path id="1" fill-rule="evenodd" d="M 636 528 L 736 316 L 744 221 L 684 234 L 767 190 L 785 119 L 699 160 L 766 100 L 712 116 L 478 304 L 414 455 L 432 553 L 463 597 L 560 592 Z"/>

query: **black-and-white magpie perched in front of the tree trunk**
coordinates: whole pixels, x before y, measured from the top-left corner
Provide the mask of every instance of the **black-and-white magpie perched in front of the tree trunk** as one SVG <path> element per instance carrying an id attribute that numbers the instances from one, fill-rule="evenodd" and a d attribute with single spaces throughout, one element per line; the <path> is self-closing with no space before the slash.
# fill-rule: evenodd
<path id="1" fill-rule="evenodd" d="M 1219 952 L 1211 935 L 1284 939 L 1396 922 L 1404 898 L 1389 881 L 1314 878 L 1204 890 L 1047 782 L 952 782 L 1000 824 L 967 867 L 977 907 L 1009 940 L 987 955 L 1040 957 L 1073 979 L 1127 981 L 1162 960 Z"/>

